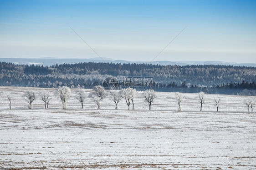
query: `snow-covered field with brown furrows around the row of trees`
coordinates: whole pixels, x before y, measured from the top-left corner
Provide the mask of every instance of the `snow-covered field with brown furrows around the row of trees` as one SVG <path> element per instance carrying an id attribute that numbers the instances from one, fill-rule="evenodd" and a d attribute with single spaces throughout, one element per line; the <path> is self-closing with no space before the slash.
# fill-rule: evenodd
<path id="1" fill-rule="evenodd" d="M 26 90 L 51 92 L 49 110 L 37 99 L 32 110 Z M 102 110 L 74 99 L 61 110 L 56 89 L 0 87 L 0 169 L 256 169 L 256 114 L 248 114 L 246 96 L 207 94 L 203 111 L 196 94 L 183 94 L 178 112 L 174 93 L 157 92 L 148 110 L 143 94 L 135 110 L 124 100 L 114 110 L 105 99 Z M 86 90 L 87 94 L 91 90 Z M 5 92 L 13 96 L 12 110 Z M 14 97 L 15 96 L 15 97 Z"/>

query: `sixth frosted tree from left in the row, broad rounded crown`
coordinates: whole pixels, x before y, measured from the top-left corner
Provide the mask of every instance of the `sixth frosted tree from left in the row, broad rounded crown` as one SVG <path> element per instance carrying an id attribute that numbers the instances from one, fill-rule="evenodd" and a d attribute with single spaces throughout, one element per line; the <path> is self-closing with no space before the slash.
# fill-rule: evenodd
<path id="1" fill-rule="evenodd" d="M 97 104 L 98 109 L 101 109 L 101 100 L 107 96 L 106 90 L 101 85 L 96 85 L 92 89 L 92 100 Z"/>

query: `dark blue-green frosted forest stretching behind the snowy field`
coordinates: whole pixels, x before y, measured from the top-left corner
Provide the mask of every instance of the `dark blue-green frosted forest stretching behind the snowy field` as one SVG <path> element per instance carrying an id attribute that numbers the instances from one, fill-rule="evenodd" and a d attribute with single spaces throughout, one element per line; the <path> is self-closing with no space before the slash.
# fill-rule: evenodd
<path id="1" fill-rule="evenodd" d="M 0 72 L 0 85 L 6 86 L 92 88 L 108 76 L 120 83 L 127 76 L 150 76 L 156 91 L 255 95 L 256 90 L 256 68 L 245 66 L 94 62 L 40 66 L 0 62 Z"/>

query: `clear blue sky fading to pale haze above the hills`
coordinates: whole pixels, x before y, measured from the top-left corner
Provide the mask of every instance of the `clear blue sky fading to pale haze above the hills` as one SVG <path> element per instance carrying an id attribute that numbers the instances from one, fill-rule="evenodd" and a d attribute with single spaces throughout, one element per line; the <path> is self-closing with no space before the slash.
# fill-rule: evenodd
<path id="1" fill-rule="evenodd" d="M 256 0 L 1 0 L 0 58 L 256 63 Z M 91 47 L 87 46 L 80 35 Z"/>

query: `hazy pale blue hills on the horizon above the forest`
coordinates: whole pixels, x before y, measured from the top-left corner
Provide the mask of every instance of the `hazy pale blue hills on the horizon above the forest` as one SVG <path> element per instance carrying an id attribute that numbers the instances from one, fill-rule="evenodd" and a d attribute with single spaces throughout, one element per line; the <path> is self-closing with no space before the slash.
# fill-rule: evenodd
<path id="1" fill-rule="evenodd" d="M 89 58 L 89 59 L 76 59 L 76 58 L 68 58 L 68 59 L 59 59 L 59 58 L 0 58 L 0 62 L 10 62 L 14 64 L 21 64 L 21 65 L 56 65 L 56 64 L 74 64 L 80 62 L 107 62 L 107 63 L 121 63 L 121 64 L 128 64 L 128 63 L 145 63 L 145 64 L 153 64 L 153 65 L 232 65 L 232 66 L 249 66 L 249 67 L 256 67 L 256 63 L 233 63 L 233 62 L 222 62 L 222 61 L 127 61 L 127 60 L 113 60 L 111 58 Z"/>

